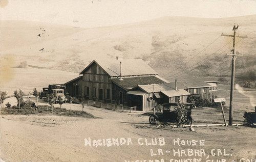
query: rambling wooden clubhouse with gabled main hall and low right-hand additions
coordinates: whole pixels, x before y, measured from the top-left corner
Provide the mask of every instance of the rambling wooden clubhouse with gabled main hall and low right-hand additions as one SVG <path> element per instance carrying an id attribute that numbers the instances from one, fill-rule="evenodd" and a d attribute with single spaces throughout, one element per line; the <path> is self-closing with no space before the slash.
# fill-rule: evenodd
<path id="1" fill-rule="evenodd" d="M 191 94 L 212 101 L 218 82 L 169 83 L 141 59 L 94 60 L 67 82 L 67 95 L 78 102 L 92 100 L 149 111 L 159 103 L 186 102 Z"/>

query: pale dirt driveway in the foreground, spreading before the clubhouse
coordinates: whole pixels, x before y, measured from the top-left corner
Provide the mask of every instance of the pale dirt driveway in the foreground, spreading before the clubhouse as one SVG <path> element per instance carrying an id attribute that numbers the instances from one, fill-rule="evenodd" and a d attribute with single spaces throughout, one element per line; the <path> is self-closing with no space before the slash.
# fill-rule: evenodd
<path id="1" fill-rule="evenodd" d="M 62 107 L 81 110 L 80 104 L 67 103 Z M 193 132 L 189 128 L 150 125 L 148 117 L 139 113 L 120 113 L 91 106 L 86 106 L 84 111 L 99 118 L 2 116 L 1 158 L 4 161 L 150 161 L 153 159 L 171 161 L 173 159 L 174 162 L 175 159 L 193 161 L 195 158 L 195 160 L 218 162 L 217 159 L 237 161 L 241 158 L 251 159 L 256 155 L 255 128 L 196 127 L 196 132 Z M 208 112 L 205 119 L 210 118 L 217 123 L 223 122 L 220 113 L 212 115 L 211 111 L 214 110 L 195 110 L 193 115 L 196 122 L 204 121 L 200 116 L 203 113 L 205 115 L 205 112 Z M 89 140 L 89 138 L 92 147 L 85 146 L 84 139 Z M 113 145 L 113 138 L 119 142 L 119 146 Z M 125 143 L 122 139 L 123 145 L 121 138 L 125 139 Z M 160 145 L 162 138 L 164 145 L 163 143 Z M 177 146 L 178 143 L 174 145 L 174 140 L 178 138 L 188 143 L 184 146 Z M 103 141 L 107 141 L 106 139 L 111 139 L 111 146 L 107 146 L 106 142 L 104 146 Z M 93 140 L 98 140 L 95 146 Z M 195 146 L 188 146 L 190 140 L 198 142 Z M 201 144 L 202 146 L 199 144 L 200 140 L 204 140 L 201 141 L 204 143 Z M 156 145 L 150 145 L 155 142 Z M 96 147 L 96 144 L 101 146 Z M 179 144 L 183 143 L 179 142 Z"/>

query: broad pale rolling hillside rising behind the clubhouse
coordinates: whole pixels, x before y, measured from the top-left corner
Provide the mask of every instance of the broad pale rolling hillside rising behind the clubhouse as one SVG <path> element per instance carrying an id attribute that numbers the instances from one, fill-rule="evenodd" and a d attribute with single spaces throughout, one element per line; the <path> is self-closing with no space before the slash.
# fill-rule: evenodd
<path id="1" fill-rule="evenodd" d="M 133 24 L 83 29 L 28 21 L 1 21 L 1 60 L 80 72 L 94 59 L 141 58 L 169 69 L 166 79 L 230 76 L 234 23 L 239 23 L 237 76 L 255 80 L 256 15 L 233 18 L 162 17 Z M 39 35 L 40 34 L 40 35 Z M 178 71 L 179 70 L 179 71 Z"/>

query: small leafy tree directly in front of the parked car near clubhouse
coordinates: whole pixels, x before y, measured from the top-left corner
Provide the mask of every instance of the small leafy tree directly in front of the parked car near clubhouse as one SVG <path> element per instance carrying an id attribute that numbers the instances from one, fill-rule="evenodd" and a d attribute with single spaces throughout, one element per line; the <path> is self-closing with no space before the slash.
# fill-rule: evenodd
<path id="1" fill-rule="evenodd" d="M 176 114 L 177 126 L 181 124 L 185 124 L 187 120 L 187 110 L 184 103 L 178 103 L 177 106 L 174 107 L 174 111 Z"/>

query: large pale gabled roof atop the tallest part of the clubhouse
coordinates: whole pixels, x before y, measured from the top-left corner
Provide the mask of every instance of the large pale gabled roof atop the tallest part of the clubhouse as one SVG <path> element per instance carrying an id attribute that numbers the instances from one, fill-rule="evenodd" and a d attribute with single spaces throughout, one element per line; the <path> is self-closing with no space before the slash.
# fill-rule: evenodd
<path id="1" fill-rule="evenodd" d="M 158 73 L 148 66 L 141 59 L 127 59 L 127 60 L 94 60 L 80 74 L 86 71 L 93 63 L 98 64 L 111 77 L 120 76 L 120 62 L 122 76 L 134 75 L 158 75 Z"/>

